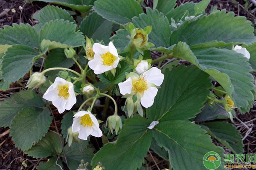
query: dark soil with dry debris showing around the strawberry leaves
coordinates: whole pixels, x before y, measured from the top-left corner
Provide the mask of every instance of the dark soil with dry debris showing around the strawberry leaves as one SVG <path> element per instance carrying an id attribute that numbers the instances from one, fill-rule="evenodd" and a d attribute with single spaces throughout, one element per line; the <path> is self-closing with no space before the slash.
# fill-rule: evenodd
<path id="1" fill-rule="evenodd" d="M 152 7 L 153 0 L 144 1 L 148 6 Z M 179 5 L 188 1 L 200 2 L 201 0 L 177 0 L 177 3 Z M 32 19 L 32 15 L 35 11 L 38 11 L 45 5 L 46 3 L 37 1 L 30 4 L 24 3 L 23 0 L 0 0 L 0 28 L 4 25 L 12 25 L 12 23 L 20 22 L 34 25 L 35 22 Z M 15 11 L 12 10 L 13 8 Z M 253 24 L 256 24 L 256 6 L 254 6 L 253 3 L 250 3 L 249 0 L 211 0 L 211 3 L 207 8 L 207 12 L 211 11 L 213 8 L 226 8 L 227 11 L 233 11 L 237 16 L 243 15 L 247 17 L 248 20 L 252 21 Z M 10 90 L 6 92 L 0 91 L 0 101 L 15 92 L 20 91 L 20 89 L 24 87 L 28 78 L 28 76 L 24 77 L 24 81 L 21 82 L 23 86 L 15 83 Z M 57 127 L 59 127 L 61 116 L 60 114 L 55 114 L 55 112 L 53 114 L 56 119 Z M 238 115 L 238 118 L 234 119 L 234 121 L 234 125 L 238 127 L 243 135 L 245 153 L 256 153 L 256 104 L 254 104 L 250 113 L 246 113 L 244 115 L 240 114 Z M 52 123 L 51 130 L 55 130 L 54 123 Z M 6 135 L 4 135 L 5 133 Z M 226 153 L 229 153 L 229 151 L 226 150 Z M 15 148 L 15 145 L 8 134 L 8 128 L 0 128 L 0 170 L 20 170 L 21 168 L 23 170 L 35 170 L 36 165 L 42 160 L 47 159 L 32 159 L 31 157 L 26 156 L 22 151 Z M 148 154 L 146 160 L 152 170 L 158 170 L 158 167 L 163 169 L 168 166 L 167 161 L 164 161 L 153 152 L 152 156 Z"/>

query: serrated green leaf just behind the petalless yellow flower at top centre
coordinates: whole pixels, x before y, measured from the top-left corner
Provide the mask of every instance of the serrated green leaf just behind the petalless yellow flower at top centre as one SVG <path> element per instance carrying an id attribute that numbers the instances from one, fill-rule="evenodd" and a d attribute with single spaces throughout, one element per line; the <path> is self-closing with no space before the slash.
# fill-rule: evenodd
<path id="1" fill-rule="evenodd" d="M 171 27 L 167 17 L 159 13 L 157 9 L 146 8 L 147 14 L 140 14 L 134 17 L 132 22 L 137 28 L 145 28 L 152 26 L 152 31 L 148 35 L 148 41 L 152 42 L 156 47 L 169 47 L 170 37 L 172 35 Z"/>

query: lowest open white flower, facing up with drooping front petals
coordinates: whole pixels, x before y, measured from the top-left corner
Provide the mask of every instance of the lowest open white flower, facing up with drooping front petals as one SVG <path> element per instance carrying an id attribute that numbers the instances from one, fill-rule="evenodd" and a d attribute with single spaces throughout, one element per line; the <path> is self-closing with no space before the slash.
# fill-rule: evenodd
<path id="1" fill-rule="evenodd" d="M 87 140 L 89 135 L 102 136 L 98 120 L 90 111 L 79 111 L 73 117 L 72 131 L 79 133 L 79 139 Z"/>

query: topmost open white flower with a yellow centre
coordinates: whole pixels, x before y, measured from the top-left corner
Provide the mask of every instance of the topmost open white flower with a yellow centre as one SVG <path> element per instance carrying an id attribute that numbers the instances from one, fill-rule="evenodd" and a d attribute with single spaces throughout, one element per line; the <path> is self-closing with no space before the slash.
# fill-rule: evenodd
<path id="1" fill-rule="evenodd" d="M 95 74 L 102 74 L 117 67 L 120 58 L 112 42 L 109 42 L 108 46 L 94 43 L 93 52 L 94 57 L 88 64 Z"/>

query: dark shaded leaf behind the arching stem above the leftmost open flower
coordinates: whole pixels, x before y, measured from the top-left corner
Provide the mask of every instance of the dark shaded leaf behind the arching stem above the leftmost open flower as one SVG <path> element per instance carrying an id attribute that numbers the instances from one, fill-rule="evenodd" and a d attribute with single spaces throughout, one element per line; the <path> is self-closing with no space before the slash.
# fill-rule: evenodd
<path id="1" fill-rule="evenodd" d="M 73 59 L 68 59 L 64 54 L 64 49 L 53 49 L 47 56 L 44 69 L 53 67 L 70 68 L 75 62 Z M 46 74 L 51 81 L 57 77 L 59 70 L 48 71 Z"/>

